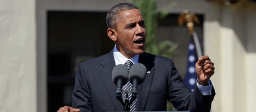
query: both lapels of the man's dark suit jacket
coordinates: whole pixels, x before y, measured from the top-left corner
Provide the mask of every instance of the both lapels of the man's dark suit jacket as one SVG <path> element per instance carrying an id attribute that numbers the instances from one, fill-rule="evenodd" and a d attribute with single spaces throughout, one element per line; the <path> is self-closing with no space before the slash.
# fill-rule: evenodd
<path id="1" fill-rule="evenodd" d="M 154 55 L 150 55 L 148 53 L 139 55 L 138 63 L 145 65 L 148 73 L 146 74 L 143 83 L 138 85 L 136 111 L 145 110 L 145 105 L 148 101 L 149 91 L 155 72 L 154 60 Z M 101 78 L 105 85 L 108 96 L 111 99 L 111 103 L 114 105 L 115 111 L 122 111 L 124 110 L 123 105 L 118 101 L 115 95 L 117 85 L 112 82 L 112 70 L 115 66 L 113 50 L 106 55 L 105 59 L 103 59 L 101 62 L 101 65 L 103 66 L 103 69 L 100 70 Z"/>

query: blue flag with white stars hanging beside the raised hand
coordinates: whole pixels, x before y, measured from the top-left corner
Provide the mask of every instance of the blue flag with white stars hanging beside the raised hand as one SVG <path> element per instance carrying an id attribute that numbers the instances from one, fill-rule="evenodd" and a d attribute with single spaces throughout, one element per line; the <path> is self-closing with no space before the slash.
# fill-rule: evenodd
<path id="1" fill-rule="evenodd" d="M 192 91 L 194 86 L 197 84 L 197 74 L 194 65 L 197 62 L 196 49 L 193 42 L 193 38 L 190 38 L 190 44 L 188 45 L 188 59 L 187 59 L 187 71 L 185 76 L 185 83 Z"/>

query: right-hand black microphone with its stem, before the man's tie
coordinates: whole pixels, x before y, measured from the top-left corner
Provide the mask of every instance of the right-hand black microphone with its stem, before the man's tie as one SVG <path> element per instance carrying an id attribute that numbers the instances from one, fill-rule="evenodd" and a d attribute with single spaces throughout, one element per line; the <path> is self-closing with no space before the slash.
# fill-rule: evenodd
<path id="1" fill-rule="evenodd" d="M 141 84 L 146 76 L 147 68 L 143 64 L 134 64 L 131 66 L 129 72 L 129 81 L 132 83 L 132 98 L 133 100 L 137 97 L 138 85 Z M 132 101 L 131 99 L 131 101 Z"/>

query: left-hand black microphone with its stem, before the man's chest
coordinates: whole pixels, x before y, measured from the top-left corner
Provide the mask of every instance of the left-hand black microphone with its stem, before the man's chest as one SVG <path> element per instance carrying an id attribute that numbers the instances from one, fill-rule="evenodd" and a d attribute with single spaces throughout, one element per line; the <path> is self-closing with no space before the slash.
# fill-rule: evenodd
<path id="1" fill-rule="evenodd" d="M 112 80 L 117 85 L 117 91 L 115 94 L 117 97 L 121 97 L 122 86 L 128 82 L 129 69 L 125 65 L 117 65 L 112 70 Z"/>

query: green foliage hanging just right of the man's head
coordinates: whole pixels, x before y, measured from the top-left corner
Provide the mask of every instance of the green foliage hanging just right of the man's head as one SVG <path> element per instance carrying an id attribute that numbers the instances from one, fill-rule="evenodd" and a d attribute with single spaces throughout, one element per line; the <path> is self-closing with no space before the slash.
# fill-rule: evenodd
<path id="1" fill-rule="evenodd" d="M 130 0 L 142 12 L 147 29 L 145 51 L 155 55 L 171 58 L 178 45 L 172 41 L 156 41 L 156 28 L 160 20 L 168 15 L 168 11 L 157 12 L 156 0 Z"/>

